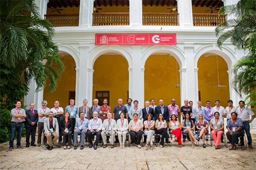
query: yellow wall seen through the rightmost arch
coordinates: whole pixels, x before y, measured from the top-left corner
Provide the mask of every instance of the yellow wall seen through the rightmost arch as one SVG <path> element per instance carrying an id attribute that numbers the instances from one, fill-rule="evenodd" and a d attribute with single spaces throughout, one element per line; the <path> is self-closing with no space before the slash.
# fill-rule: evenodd
<path id="1" fill-rule="evenodd" d="M 202 105 L 205 105 L 206 100 L 211 101 L 211 106 L 214 106 L 215 100 L 220 100 L 222 106 L 227 106 L 229 99 L 229 83 L 227 64 L 225 60 L 218 56 L 219 67 L 219 83 L 226 87 L 217 88 L 217 61 L 214 56 L 201 56 L 197 63 L 198 69 L 198 89 L 201 91 Z"/>

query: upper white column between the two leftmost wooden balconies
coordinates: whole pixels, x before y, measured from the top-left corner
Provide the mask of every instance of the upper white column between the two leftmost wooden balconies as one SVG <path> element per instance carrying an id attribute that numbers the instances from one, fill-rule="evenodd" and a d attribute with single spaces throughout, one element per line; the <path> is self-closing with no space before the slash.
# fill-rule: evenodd
<path id="1" fill-rule="evenodd" d="M 94 0 L 80 0 L 79 26 L 88 28 L 92 25 Z"/>

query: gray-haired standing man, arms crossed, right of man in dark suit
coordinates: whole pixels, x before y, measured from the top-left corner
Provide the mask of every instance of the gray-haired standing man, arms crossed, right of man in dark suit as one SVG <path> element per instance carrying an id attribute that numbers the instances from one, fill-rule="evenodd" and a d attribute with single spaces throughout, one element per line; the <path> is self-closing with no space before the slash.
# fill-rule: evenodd
<path id="1" fill-rule="evenodd" d="M 41 138 L 42 138 L 42 132 L 44 129 L 44 120 L 46 117 L 49 116 L 49 112 L 51 111 L 50 108 L 47 107 L 47 100 L 43 100 L 41 102 L 42 106 L 39 107 L 38 110 L 38 137 L 37 137 L 37 146 L 41 146 Z M 44 135 L 43 143 L 46 144 L 47 139 Z"/>

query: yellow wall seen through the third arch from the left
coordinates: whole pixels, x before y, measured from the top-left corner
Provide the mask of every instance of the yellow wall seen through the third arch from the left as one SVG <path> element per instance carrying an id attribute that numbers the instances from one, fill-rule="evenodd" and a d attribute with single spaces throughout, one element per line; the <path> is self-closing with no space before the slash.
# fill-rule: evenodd
<path id="1" fill-rule="evenodd" d="M 177 66 L 180 69 L 179 64 Z M 163 99 L 164 104 L 169 105 L 175 98 L 176 104 L 181 106 L 180 87 L 175 87 L 176 77 L 176 59 L 173 56 L 151 55 L 145 64 L 145 101 L 155 98 L 156 105 L 159 105 L 159 99 Z"/>

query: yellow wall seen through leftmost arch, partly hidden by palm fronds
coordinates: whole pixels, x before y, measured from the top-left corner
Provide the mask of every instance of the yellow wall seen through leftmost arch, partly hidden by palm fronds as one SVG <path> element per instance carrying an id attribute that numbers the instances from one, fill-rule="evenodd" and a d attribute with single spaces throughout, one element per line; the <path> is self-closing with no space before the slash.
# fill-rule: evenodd
<path id="1" fill-rule="evenodd" d="M 49 85 L 44 89 L 44 100 L 48 101 L 48 107 L 54 107 L 54 101 L 58 100 L 60 106 L 65 109 L 69 104 L 69 91 L 75 91 L 76 87 L 76 71 L 74 69 L 75 60 L 71 55 L 65 55 L 62 57 L 64 64 L 66 66 L 65 71 L 61 75 L 61 80 L 56 91 L 52 93 L 47 93 Z M 50 81 L 47 81 L 47 84 L 50 84 Z"/>

